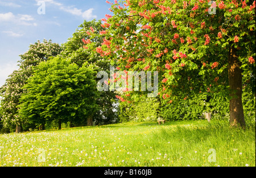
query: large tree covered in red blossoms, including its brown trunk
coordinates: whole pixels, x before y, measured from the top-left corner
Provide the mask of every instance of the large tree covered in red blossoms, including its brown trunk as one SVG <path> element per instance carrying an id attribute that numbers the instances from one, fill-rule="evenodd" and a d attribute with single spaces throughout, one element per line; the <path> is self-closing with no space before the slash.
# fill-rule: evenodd
<path id="1" fill-rule="evenodd" d="M 245 127 L 242 77 L 255 70 L 255 1 L 115 0 L 110 11 L 104 43 L 85 48 L 121 71 L 158 71 L 159 95 L 169 103 L 225 94 L 230 125 Z"/>

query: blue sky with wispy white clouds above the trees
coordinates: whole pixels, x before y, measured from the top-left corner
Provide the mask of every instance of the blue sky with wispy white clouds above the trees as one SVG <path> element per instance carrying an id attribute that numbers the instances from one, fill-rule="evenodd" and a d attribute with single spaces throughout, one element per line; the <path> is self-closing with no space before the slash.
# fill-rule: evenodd
<path id="1" fill-rule="evenodd" d="M 106 0 L 0 0 L 0 86 L 30 44 L 64 43 L 84 20 L 112 14 L 109 8 Z"/>

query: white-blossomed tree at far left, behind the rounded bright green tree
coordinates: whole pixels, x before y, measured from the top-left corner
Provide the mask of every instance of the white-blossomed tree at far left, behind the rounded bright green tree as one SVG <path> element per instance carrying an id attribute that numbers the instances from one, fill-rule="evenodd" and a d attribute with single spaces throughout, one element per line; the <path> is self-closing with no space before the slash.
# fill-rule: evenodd
<path id="1" fill-rule="evenodd" d="M 59 44 L 43 40 L 43 43 L 38 41 L 31 44 L 28 51 L 20 55 L 19 69 L 14 71 L 0 88 L 2 122 L 5 127 L 16 125 L 16 133 L 20 132 L 22 121 L 17 106 L 20 104 L 20 96 L 24 93 L 22 88 L 34 72 L 32 67 L 47 61 L 51 56 L 56 56 L 60 51 Z"/>

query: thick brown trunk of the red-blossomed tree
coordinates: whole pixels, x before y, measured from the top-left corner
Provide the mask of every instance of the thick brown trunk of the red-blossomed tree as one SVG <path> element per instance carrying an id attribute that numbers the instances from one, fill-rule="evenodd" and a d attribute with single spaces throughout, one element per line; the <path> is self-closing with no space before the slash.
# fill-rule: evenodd
<path id="1" fill-rule="evenodd" d="M 242 105 L 242 70 L 241 62 L 238 60 L 237 49 L 230 47 L 229 49 L 229 87 L 230 96 L 229 101 L 229 124 L 232 127 L 241 126 L 245 128 L 245 116 L 243 115 Z"/>

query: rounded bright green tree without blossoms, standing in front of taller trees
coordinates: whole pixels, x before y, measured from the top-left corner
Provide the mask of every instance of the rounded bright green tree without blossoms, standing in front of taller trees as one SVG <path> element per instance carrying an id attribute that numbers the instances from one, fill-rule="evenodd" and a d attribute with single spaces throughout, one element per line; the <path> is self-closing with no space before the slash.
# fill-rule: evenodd
<path id="1" fill-rule="evenodd" d="M 61 57 L 40 63 L 24 86 L 19 115 L 27 122 L 50 125 L 81 123 L 97 111 L 92 65 L 79 67 Z"/>

